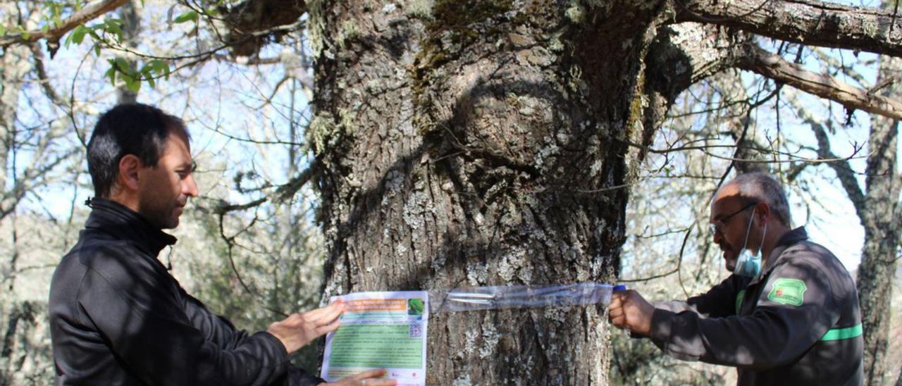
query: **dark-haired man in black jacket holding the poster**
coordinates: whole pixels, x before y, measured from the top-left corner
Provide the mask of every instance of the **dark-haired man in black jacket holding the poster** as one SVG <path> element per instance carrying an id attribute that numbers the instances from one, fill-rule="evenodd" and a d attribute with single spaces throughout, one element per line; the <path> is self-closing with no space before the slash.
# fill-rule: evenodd
<path id="1" fill-rule="evenodd" d="M 248 335 L 189 296 L 157 260 L 182 208 L 198 195 L 189 133 L 140 104 L 100 117 L 87 145 L 97 198 L 78 244 L 53 274 L 57 384 L 312 385 L 289 355 L 334 331 L 340 302 Z M 337 384 L 392 385 L 383 371 Z"/>

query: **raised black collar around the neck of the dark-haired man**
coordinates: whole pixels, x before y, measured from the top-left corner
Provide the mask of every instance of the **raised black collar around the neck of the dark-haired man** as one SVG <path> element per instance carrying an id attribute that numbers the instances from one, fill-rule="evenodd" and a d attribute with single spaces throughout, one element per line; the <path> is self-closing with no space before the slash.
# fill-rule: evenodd
<path id="1" fill-rule="evenodd" d="M 132 241 L 147 253 L 156 256 L 167 245 L 177 239 L 153 226 L 144 216 L 118 202 L 105 198 L 90 198 L 87 206 L 91 215 L 87 216 L 85 229 L 95 229 L 116 238 Z"/>

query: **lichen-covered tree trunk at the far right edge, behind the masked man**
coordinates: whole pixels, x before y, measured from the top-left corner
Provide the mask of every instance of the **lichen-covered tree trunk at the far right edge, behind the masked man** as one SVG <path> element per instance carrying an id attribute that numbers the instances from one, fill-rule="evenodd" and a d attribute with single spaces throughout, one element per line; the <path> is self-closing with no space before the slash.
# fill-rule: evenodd
<path id="1" fill-rule="evenodd" d="M 885 96 L 898 96 L 902 85 L 902 60 L 880 58 L 879 80 L 897 79 L 882 90 Z M 892 380 L 887 368 L 889 339 L 890 300 L 893 277 L 896 274 L 896 256 L 899 248 L 898 219 L 899 177 L 897 163 L 898 121 L 874 115 L 868 139 L 867 192 L 865 210 L 861 216 L 864 225 L 864 247 L 858 271 L 858 294 L 861 299 L 861 324 L 864 329 L 865 383 L 880 385 Z"/>

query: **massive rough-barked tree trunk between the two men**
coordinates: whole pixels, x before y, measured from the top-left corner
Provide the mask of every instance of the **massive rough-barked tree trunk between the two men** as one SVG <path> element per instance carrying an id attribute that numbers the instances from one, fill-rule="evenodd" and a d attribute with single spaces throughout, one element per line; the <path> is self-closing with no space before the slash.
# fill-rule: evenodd
<path id="1" fill-rule="evenodd" d="M 612 280 L 655 10 L 426 3 L 308 4 L 326 296 Z M 433 315 L 427 382 L 604 384 L 603 311 Z"/>

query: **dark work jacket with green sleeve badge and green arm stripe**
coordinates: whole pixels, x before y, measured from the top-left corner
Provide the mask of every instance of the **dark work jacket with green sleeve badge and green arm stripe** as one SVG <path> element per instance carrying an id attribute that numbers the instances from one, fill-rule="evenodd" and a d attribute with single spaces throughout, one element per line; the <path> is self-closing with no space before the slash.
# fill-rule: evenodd
<path id="1" fill-rule="evenodd" d="M 757 277 L 731 275 L 656 305 L 651 339 L 679 359 L 735 366 L 740 385 L 861 385 L 861 311 L 849 272 L 805 228 L 785 234 Z"/>

